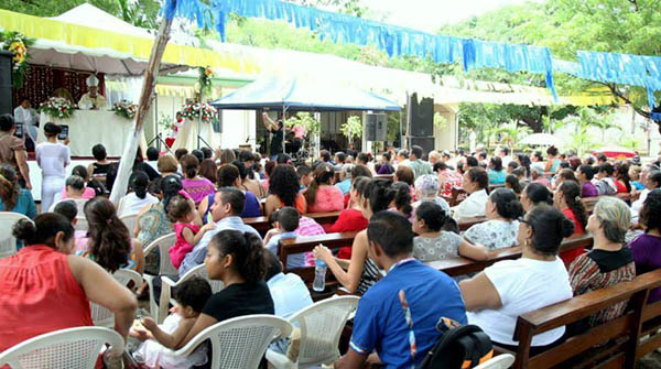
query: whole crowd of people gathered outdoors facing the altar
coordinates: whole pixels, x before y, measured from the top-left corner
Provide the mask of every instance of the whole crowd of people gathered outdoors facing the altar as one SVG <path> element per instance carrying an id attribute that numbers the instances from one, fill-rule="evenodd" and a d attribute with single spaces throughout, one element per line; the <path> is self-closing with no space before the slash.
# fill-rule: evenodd
<path id="1" fill-rule="evenodd" d="M 17 223 L 19 251 L 0 260 L 0 283 L 8 286 L 0 295 L 0 351 L 43 333 L 91 325 L 93 302 L 115 313 L 119 334 L 144 341 L 134 357 L 148 367 L 202 365 L 205 347 L 186 358 L 169 356 L 164 348 L 181 348 L 232 317 L 286 318 L 311 305 L 305 283 L 283 270 L 321 260 L 342 287 L 361 296 L 349 349 L 336 368 L 359 367 L 373 359 L 371 354 L 388 368 L 412 367 L 440 337 L 441 317 L 478 325 L 494 343 L 512 348 L 519 315 L 661 267 L 658 161 L 581 159 L 556 148 L 545 155 L 508 148 L 489 155 L 481 146 L 469 154 L 425 153 L 414 145 L 375 156 L 322 151 L 312 163 L 295 163 L 284 153 L 262 159 L 249 151 L 182 149 L 172 155 L 150 148 L 147 158 L 139 153 L 129 194 L 115 206 L 106 194 L 117 163 L 104 146 L 94 146 L 89 167 L 65 177 L 66 142 L 57 142 L 59 128 L 47 123 L 48 140 L 36 146 L 44 178 L 37 215 L 12 124 L 0 117 L 0 208 L 32 220 Z M 587 210 L 589 197 L 596 203 Z M 326 211 L 338 211 L 334 224 L 307 216 Z M 120 219 L 131 215 L 133 229 Z M 245 223 L 256 216 L 269 218 L 266 235 Z M 479 221 L 460 232 L 466 218 Z M 75 231 L 83 220 L 87 228 Z M 351 247 L 318 245 L 290 256 L 285 265 L 278 259 L 280 240 L 349 231 L 356 232 Z M 167 256 L 145 254 L 148 245 L 173 232 L 176 241 Z M 592 249 L 560 251 L 563 239 L 586 232 Z M 475 275 L 453 279 L 425 265 L 459 256 L 487 260 L 495 250 L 514 246 L 521 247 L 520 259 Z M 187 280 L 175 291 L 176 305 L 163 324 L 144 318 L 142 328 L 131 328 L 137 299 L 149 289 L 131 291 L 111 273 L 127 268 L 158 275 L 161 258 L 178 270 L 171 279 L 204 264 L 208 279 L 225 287 L 214 293 L 207 280 Z M 650 295 L 660 299 L 661 291 Z M 533 351 L 625 308 L 618 304 L 582 326 L 534 336 Z"/>

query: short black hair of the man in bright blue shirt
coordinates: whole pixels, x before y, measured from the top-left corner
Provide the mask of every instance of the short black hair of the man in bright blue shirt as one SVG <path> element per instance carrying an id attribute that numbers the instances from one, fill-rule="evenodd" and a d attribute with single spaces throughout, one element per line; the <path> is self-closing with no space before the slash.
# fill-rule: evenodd
<path id="1" fill-rule="evenodd" d="M 394 211 L 378 211 L 367 226 L 369 242 L 379 245 L 390 258 L 411 253 L 413 250 L 411 223 Z"/>

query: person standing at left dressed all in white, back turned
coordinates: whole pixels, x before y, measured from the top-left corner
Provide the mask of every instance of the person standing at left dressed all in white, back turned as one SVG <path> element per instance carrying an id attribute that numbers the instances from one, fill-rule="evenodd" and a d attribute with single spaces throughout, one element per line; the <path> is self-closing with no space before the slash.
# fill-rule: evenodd
<path id="1" fill-rule="evenodd" d="M 36 163 L 42 169 L 42 211 L 50 209 L 55 194 L 64 189 L 66 166 L 72 162 L 68 138 L 64 140 L 64 144 L 57 142 L 57 134 L 61 132 L 62 127 L 47 122 L 44 124 L 46 141 L 35 149 Z"/>

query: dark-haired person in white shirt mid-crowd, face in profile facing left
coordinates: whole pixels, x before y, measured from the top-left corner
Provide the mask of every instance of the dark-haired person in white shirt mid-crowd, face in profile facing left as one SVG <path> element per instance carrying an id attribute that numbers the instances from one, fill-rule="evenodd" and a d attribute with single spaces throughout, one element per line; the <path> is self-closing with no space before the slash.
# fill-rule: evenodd
<path id="1" fill-rule="evenodd" d="M 472 167 L 464 173 L 464 184 L 462 188 L 468 193 L 468 197 L 459 205 L 452 208 L 453 218 L 484 217 L 485 206 L 489 196 L 487 187 L 489 186 L 489 176 L 481 167 Z"/>

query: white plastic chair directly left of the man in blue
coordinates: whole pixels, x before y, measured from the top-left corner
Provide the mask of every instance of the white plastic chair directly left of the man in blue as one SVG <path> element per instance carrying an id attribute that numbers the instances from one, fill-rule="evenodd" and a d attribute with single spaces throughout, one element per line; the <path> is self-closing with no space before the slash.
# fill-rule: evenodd
<path id="1" fill-rule="evenodd" d="M 339 337 L 358 306 L 358 296 L 342 296 L 319 301 L 289 318 L 301 329 L 297 361 L 286 355 L 269 349 L 267 360 L 275 368 L 305 368 L 335 362 L 339 358 Z"/>

